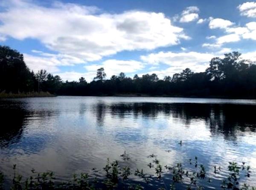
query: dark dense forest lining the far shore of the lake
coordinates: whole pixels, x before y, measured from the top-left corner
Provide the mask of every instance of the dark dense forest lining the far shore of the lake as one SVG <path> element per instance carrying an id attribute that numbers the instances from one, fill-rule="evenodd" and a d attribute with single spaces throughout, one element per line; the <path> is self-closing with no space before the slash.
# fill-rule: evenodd
<path id="1" fill-rule="evenodd" d="M 99 68 L 93 81 L 81 76 L 79 82 L 63 82 L 45 70 L 34 73 L 23 60 L 23 55 L 7 46 L 0 46 L 0 93 L 38 92 L 55 95 L 113 96 L 192 96 L 256 99 L 256 65 L 241 59 L 239 52 L 214 57 L 205 72 L 194 73 L 186 68 L 172 77 L 159 79 L 156 74 L 137 74 L 131 78 L 123 72 L 106 79 L 104 68 Z"/>

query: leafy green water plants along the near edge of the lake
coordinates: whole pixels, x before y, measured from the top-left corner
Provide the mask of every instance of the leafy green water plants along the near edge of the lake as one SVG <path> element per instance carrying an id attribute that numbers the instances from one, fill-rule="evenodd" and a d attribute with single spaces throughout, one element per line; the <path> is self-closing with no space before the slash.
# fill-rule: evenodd
<path id="1" fill-rule="evenodd" d="M 108 159 L 102 170 L 93 168 L 88 173 L 73 174 L 70 181 L 63 182 L 58 182 L 53 172 L 37 173 L 34 169 L 31 170 L 32 175 L 29 178 L 23 179 L 23 176 L 17 173 L 17 167 L 14 165 L 11 187 L 5 185 L 5 176 L 0 173 L 0 190 L 9 188 L 12 190 L 203 190 L 213 183 L 210 173 L 218 175 L 221 170 L 224 170 L 221 166 L 214 166 L 207 171 L 204 165 L 200 164 L 198 157 L 188 160 L 189 167 L 183 166 L 182 163 L 176 163 L 172 166 L 163 165 L 156 155 L 151 154 L 148 158 L 152 159 L 152 162 L 147 165 L 151 172 L 145 173 L 143 169 L 132 171 L 128 167 L 131 158 L 126 152 L 120 156 L 122 157 L 120 161 L 110 162 Z M 227 169 L 228 176 L 218 184 L 219 189 L 256 190 L 250 184 L 240 182 L 251 176 L 250 166 L 246 165 L 245 162 L 240 165 L 236 162 L 229 162 Z"/>

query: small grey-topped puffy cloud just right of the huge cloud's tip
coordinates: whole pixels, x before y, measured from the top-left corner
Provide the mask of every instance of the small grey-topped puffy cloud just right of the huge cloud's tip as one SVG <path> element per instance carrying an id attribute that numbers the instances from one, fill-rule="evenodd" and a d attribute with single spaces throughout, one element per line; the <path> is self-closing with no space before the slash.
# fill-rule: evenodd
<path id="1" fill-rule="evenodd" d="M 198 12 L 199 12 L 199 9 L 196 6 L 187 7 L 181 13 L 180 22 L 181 23 L 189 23 L 194 20 L 198 20 L 198 18 L 199 18 Z"/>

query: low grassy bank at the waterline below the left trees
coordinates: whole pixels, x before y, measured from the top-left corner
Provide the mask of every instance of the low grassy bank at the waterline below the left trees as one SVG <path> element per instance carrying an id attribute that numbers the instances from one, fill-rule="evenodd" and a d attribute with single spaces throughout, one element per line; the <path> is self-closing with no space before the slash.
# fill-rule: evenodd
<path id="1" fill-rule="evenodd" d="M 14 94 L 12 92 L 6 93 L 5 91 L 0 92 L 0 98 L 29 98 L 29 97 L 53 97 L 55 95 L 49 92 L 22 92 Z"/>

